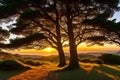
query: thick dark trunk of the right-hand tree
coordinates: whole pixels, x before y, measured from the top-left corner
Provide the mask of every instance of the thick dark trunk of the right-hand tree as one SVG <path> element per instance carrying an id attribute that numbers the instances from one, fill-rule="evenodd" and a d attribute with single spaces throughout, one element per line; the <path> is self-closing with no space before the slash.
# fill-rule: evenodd
<path id="1" fill-rule="evenodd" d="M 69 36 L 69 50 L 70 50 L 70 62 L 69 69 L 79 68 L 77 46 L 75 45 L 75 38 L 73 33 L 72 21 L 68 20 L 68 36 Z"/>

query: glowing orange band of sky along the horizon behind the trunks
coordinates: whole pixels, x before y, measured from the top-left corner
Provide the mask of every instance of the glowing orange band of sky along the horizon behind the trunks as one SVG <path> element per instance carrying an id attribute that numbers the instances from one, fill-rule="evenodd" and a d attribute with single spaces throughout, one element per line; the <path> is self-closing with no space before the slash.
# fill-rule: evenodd
<path id="1" fill-rule="evenodd" d="M 116 45 L 104 45 L 104 46 L 86 46 L 85 43 L 81 44 L 78 46 L 78 53 L 87 53 L 87 52 L 104 52 L 104 51 L 117 51 L 120 50 L 120 47 L 116 46 Z M 69 48 L 65 47 L 64 48 L 65 52 L 69 52 Z M 30 50 L 13 50 L 13 51 L 9 51 L 11 53 L 14 54 L 28 54 L 28 55 L 51 55 L 51 54 L 57 54 L 57 51 L 53 48 L 46 48 L 43 50 L 35 50 L 35 49 L 30 49 Z"/>

